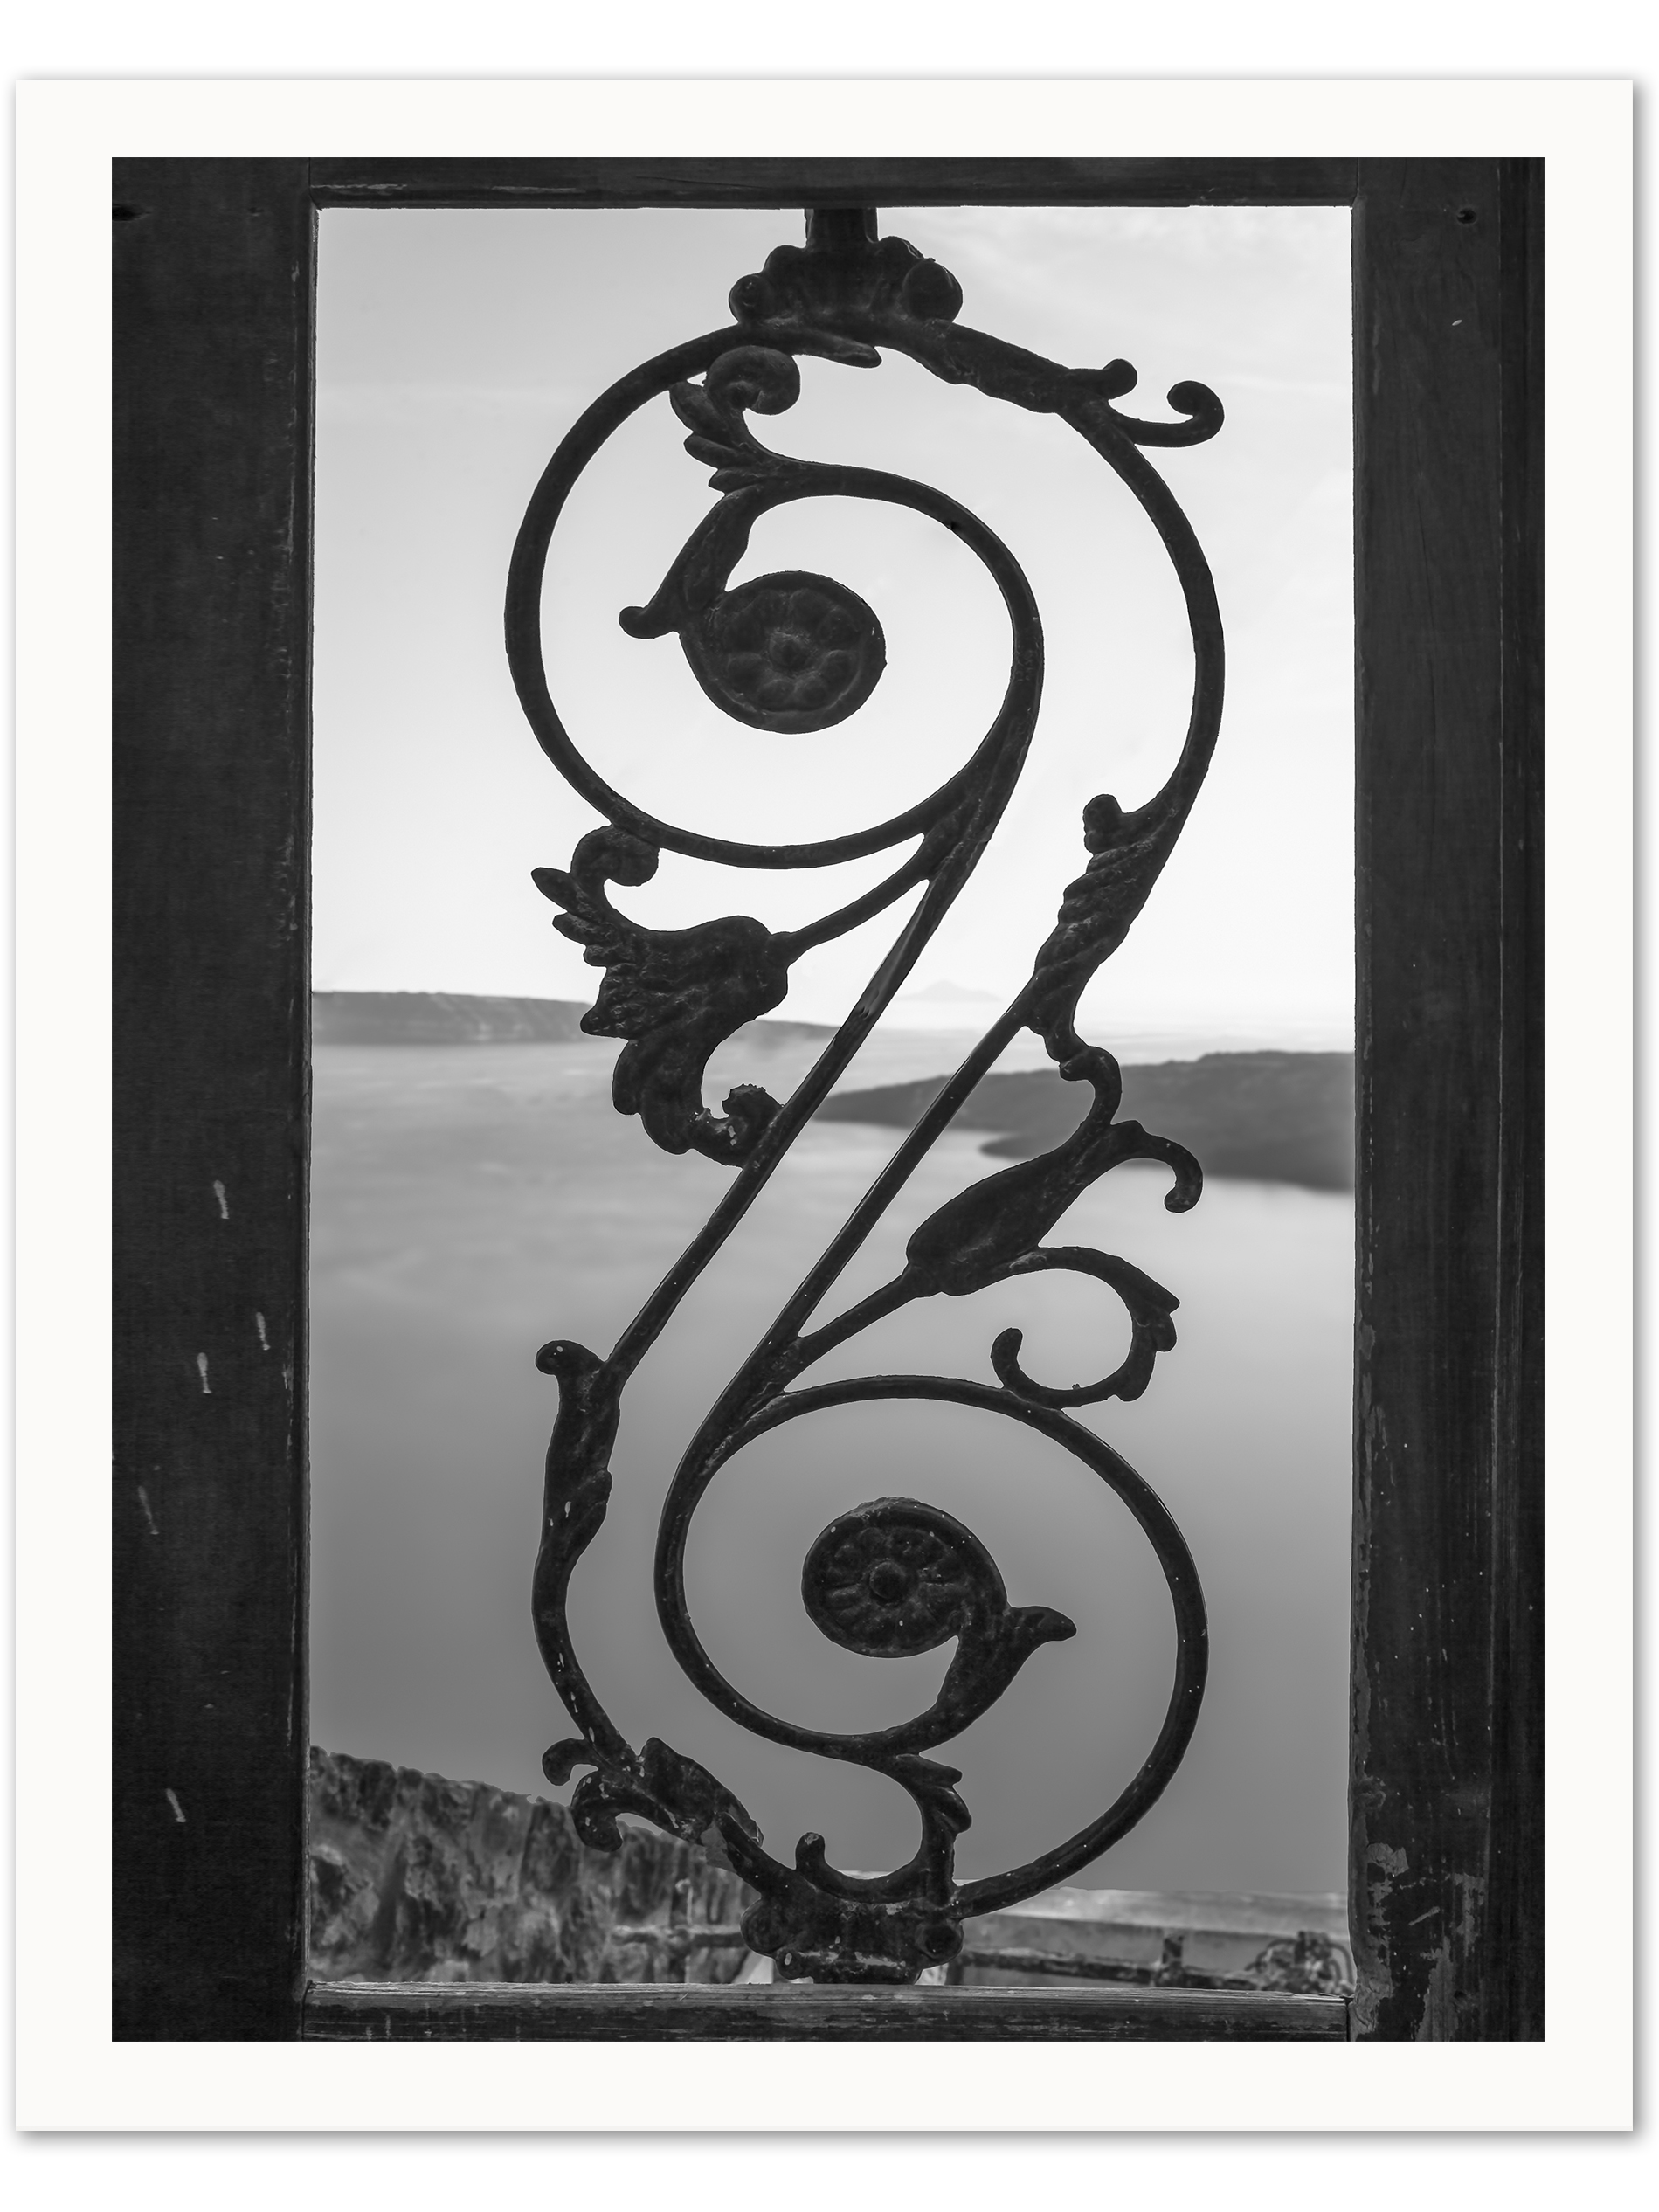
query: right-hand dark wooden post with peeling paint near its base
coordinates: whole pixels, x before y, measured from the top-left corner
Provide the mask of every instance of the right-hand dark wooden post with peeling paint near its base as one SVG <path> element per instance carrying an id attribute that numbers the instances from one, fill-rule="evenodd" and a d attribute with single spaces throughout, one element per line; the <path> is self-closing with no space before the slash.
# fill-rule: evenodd
<path id="1" fill-rule="evenodd" d="M 1540 164 L 1363 164 L 1363 2037 L 1544 2033 L 1540 250 Z"/>

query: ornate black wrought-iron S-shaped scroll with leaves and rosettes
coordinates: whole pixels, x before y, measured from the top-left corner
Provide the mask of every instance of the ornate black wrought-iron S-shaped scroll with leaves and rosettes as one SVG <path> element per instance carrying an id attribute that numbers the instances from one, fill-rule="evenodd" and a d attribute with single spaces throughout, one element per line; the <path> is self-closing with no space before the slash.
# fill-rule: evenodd
<path id="1" fill-rule="evenodd" d="M 1113 1055 L 1077 1035 L 1077 1000 L 1121 945 L 1168 860 L 1210 763 L 1221 719 L 1221 619 L 1210 571 L 1144 447 L 1197 445 L 1221 427 L 1221 405 L 1203 385 L 1168 394 L 1179 420 L 1126 416 L 1135 385 L 1124 361 L 1066 369 L 1000 338 L 958 325 L 962 292 L 936 261 L 896 237 L 878 237 L 872 210 L 816 210 L 805 248 L 781 246 L 765 268 L 732 290 L 730 327 L 692 338 L 624 376 L 588 407 L 549 462 L 524 515 L 507 591 L 507 653 L 524 712 L 549 759 L 606 818 L 575 847 L 568 869 L 535 869 L 538 887 L 562 907 L 555 929 L 584 947 L 604 980 L 582 1026 L 622 1040 L 613 1077 L 619 1113 L 639 1115 L 668 1152 L 699 1150 L 734 1170 L 732 1181 L 681 1259 L 657 1285 L 608 1356 L 573 1340 L 540 1349 L 557 1378 L 560 1405 L 546 1453 L 542 1542 L 535 1559 L 535 1637 L 553 1686 L 580 1736 L 544 1756 L 549 1781 L 586 1767 L 571 1798 L 577 1832 L 597 1847 L 619 1843 L 617 1814 L 653 1820 L 686 1840 L 719 1845 L 757 1889 L 745 1920 L 752 1949 L 787 1978 L 821 1982 L 911 1982 L 956 1955 L 960 1922 L 998 1911 L 1075 1874 L 1124 1836 L 1157 1801 L 1197 1723 L 1206 1677 L 1206 1615 L 1192 1555 L 1155 1491 L 1110 1444 L 1073 1418 L 1106 1398 L 1137 1398 L 1161 1352 L 1175 1343 L 1168 1290 L 1130 1261 L 1042 1239 L 1093 1181 L 1126 1159 L 1164 1161 L 1164 1203 L 1197 1203 L 1201 1168 L 1190 1152 L 1137 1121 L 1119 1121 L 1121 1079 Z M 1194 646 L 1192 712 L 1172 774 L 1146 805 L 1126 812 L 1113 796 L 1084 810 L 1086 865 L 1066 885 L 1053 933 L 1031 978 L 958 1073 L 927 1106 L 799 1292 L 721 1391 L 690 1440 L 664 1502 L 655 1595 L 668 1644 L 703 1697 L 743 1728 L 825 1759 L 854 1761 L 909 1792 L 920 1845 L 896 1871 L 849 1876 L 825 1858 L 821 1836 L 803 1836 L 794 1865 L 761 1840 L 743 1805 L 706 1767 L 659 1739 L 630 1745 L 599 1703 L 571 1644 L 566 1590 L 611 1495 L 611 1451 L 622 1391 L 692 1281 L 732 1234 L 805 1121 L 827 1097 L 878 1015 L 916 964 L 995 830 L 1031 743 L 1042 692 L 1042 626 L 1031 588 L 1006 546 L 956 500 L 874 469 L 794 460 L 763 445 L 750 416 L 785 414 L 799 394 L 796 356 L 878 367 L 880 347 L 907 354 L 945 383 L 1060 416 L 1139 500 L 1175 564 Z M 701 380 L 699 380 L 701 378 Z M 542 666 L 540 599 L 546 551 L 564 502 L 606 438 L 639 407 L 668 394 L 688 429 L 686 451 L 712 469 L 719 495 L 675 557 L 657 593 L 622 613 L 633 637 L 677 635 L 703 692 L 741 723 L 770 732 L 832 728 L 869 697 L 885 664 L 880 619 L 856 593 L 805 571 L 732 586 L 754 524 L 772 509 L 812 498 L 887 500 L 953 531 L 987 566 L 1009 611 L 1009 681 L 991 728 L 931 796 L 838 838 L 750 845 L 657 821 L 615 792 L 577 752 L 553 706 Z M 721 916 L 690 929 L 646 929 L 622 914 L 608 885 L 641 885 L 661 852 L 737 867 L 810 869 L 918 841 L 885 883 L 794 931 L 752 916 Z M 920 889 L 909 920 L 834 1040 L 796 1091 L 779 1102 L 739 1084 L 721 1113 L 703 1102 L 712 1051 L 787 993 L 790 967 L 814 945 L 854 929 Z M 909 1239 L 902 1270 L 830 1323 L 818 1305 L 927 1148 L 1020 1029 L 1042 1037 L 1066 1082 L 1093 1104 L 1051 1152 L 973 1183 Z M 991 1345 L 995 1383 L 949 1376 L 801 1378 L 834 1345 L 898 1307 L 931 1296 L 971 1296 L 1044 1270 L 1106 1283 L 1130 1316 L 1121 1365 L 1093 1385 L 1057 1389 L 1022 1367 L 1018 1329 Z M 838 1405 L 925 1398 L 1022 1425 L 1091 1469 L 1133 1513 L 1168 1584 L 1177 1659 L 1161 1730 L 1121 1794 L 1075 1836 L 1006 1874 L 958 1882 L 956 1836 L 969 1812 L 960 1772 L 931 1756 L 978 1719 L 1033 1650 L 1071 1637 L 1073 1624 L 1046 1606 L 1009 1601 L 980 1540 L 951 1515 L 909 1498 L 878 1498 L 832 1522 L 810 1546 L 803 1601 L 812 1621 L 858 1652 L 920 1652 L 956 1641 L 927 1712 L 869 1734 L 799 1728 L 754 1705 L 719 1672 L 686 1604 L 686 1537 L 723 1467 L 757 1438 Z"/>

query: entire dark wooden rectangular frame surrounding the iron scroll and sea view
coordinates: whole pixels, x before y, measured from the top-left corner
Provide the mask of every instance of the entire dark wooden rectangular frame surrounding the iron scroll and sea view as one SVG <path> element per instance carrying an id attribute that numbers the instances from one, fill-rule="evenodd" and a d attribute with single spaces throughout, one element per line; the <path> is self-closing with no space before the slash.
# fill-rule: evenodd
<path id="1" fill-rule="evenodd" d="M 115 164 L 117 2037 L 1544 2033 L 1542 188 L 1524 159 Z M 1354 208 L 1347 2008 L 305 1991 L 316 210 L 845 201 Z"/>

